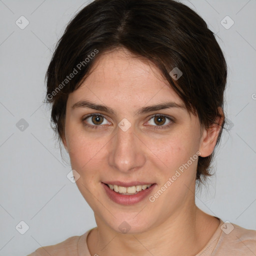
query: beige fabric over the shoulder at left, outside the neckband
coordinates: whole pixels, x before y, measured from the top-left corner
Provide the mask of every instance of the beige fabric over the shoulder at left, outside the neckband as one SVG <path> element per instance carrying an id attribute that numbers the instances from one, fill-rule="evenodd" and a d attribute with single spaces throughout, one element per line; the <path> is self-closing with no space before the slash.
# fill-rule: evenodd
<path id="1" fill-rule="evenodd" d="M 40 247 L 27 256 L 77 256 L 77 244 L 83 236 L 84 234 L 81 236 L 71 236 L 57 244 Z"/>

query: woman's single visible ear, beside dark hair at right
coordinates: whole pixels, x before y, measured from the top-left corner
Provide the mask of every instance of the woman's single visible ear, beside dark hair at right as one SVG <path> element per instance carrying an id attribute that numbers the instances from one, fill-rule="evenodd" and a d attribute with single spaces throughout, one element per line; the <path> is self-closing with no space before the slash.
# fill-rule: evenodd
<path id="1" fill-rule="evenodd" d="M 218 134 L 221 130 L 221 125 L 224 120 L 224 114 L 221 107 L 218 107 L 219 115 L 215 119 L 215 122 L 211 124 L 208 129 L 203 128 L 201 139 L 200 139 L 200 146 L 199 151 L 201 152 L 200 156 L 206 157 L 210 155 L 214 147 L 216 145 Z"/>

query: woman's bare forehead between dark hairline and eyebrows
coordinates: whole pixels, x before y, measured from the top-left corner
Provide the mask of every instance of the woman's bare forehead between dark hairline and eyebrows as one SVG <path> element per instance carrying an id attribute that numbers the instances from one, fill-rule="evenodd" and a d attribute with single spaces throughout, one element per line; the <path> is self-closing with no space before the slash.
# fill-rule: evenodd
<path id="1" fill-rule="evenodd" d="M 161 72 L 148 60 L 132 55 L 125 49 L 116 49 L 100 55 L 94 62 L 90 74 L 71 94 L 78 99 L 84 94 L 96 93 L 99 99 L 117 97 L 120 100 L 165 101 L 182 100 L 168 85 Z"/>

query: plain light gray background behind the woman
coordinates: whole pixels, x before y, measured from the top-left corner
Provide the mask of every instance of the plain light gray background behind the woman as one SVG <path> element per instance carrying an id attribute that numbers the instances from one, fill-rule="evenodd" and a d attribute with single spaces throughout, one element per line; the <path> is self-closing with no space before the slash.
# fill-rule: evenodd
<path id="1" fill-rule="evenodd" d="M 196 194 L 196 203 L 223 221 L 256 229 L 256 0 L 183 2 L 219 36 L 229 68 L 229 131 L 223 131 L 216 151 L 216 174 Z M 61 159 L 49 108 L 42 103 L 55 43 L 86 3 L 0 0 L 0 255 L 26 255 L 95 226 L 92 210 L 66 177 L 71 170 L 68 155 L 63 150 Z M 24 29 L 15 23 L 21 15 L 29 21 Z M 229 29 L 221 24 L 226 15 L 234 21 Z M 28 123 L 23 130 L 21 118 Z M 21 220 L 29 226 L 24 234 L 15 228 Z"/>

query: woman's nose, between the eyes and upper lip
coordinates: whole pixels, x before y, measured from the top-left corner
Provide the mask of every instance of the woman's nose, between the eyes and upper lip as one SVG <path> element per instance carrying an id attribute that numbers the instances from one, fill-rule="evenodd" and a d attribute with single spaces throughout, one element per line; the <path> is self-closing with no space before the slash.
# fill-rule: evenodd
<path id="1" fill-rule="evenodd" d="M 116 127 L 116 135 L 110 141 L 108 164 L 121 172 L 137 170 L 145 163 L 145 145 L 134 133 L 133 127 L 123 131 Z"/>

